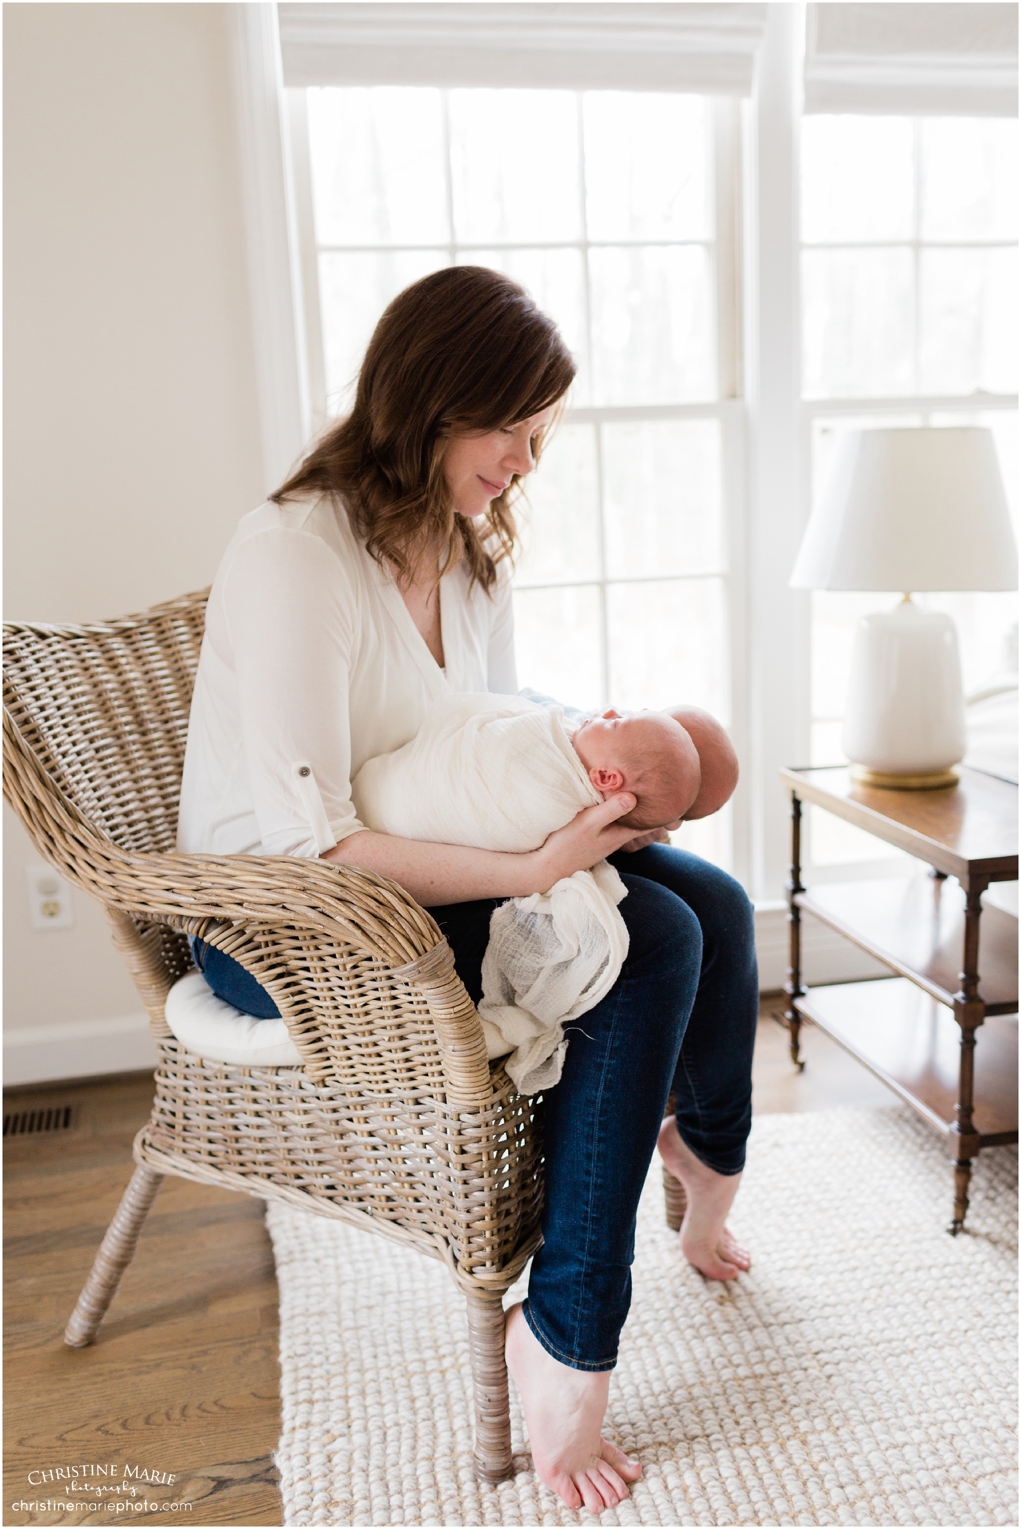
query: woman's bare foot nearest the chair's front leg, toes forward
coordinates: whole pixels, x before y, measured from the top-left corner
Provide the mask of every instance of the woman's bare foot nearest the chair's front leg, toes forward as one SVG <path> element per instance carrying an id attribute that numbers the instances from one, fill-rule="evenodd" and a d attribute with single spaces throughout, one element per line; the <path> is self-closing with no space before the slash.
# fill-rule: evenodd
<path id="1" fill-rule="evenodd" d="M 610 1372 L 561 1364 L 538 1341 L 520 1304 L 507 1312 L 507 1368 L 521 1393 L 532 1460 L 546 1485 L 569 1508 L 584 1503 L 590 1514 L 622 1503 L 627 1482 L 637 1480 L 642 1466 L 599 1431 Z"/>

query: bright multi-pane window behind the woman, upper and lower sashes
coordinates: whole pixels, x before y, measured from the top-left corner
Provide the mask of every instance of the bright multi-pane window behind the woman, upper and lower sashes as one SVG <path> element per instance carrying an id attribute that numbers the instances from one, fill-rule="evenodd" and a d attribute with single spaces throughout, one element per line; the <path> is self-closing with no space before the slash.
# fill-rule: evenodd
<path id="1" fill-rule="evenodd" d="M 683 697 L 726 720 L 724 482 L 732 491 L 740 472 L 724 472 L 724 454 L 740 430 L 735 402 L 718 398 L 737 332 L 715 298 L 721 260 L 734 289 L 729 208 L 723 248 L 715 229 L 721 179 L 732 190 L 720 104 L 423 87 L 301 98 L 318 411 L 344 410 L 371 326 L 408 283 L 459 261 L 521 281 L 579 362 L 572 414 L 527 485 L 521 682 L 576 705 Z M 685 829 L 726 864 L 729 838 L 729 813 Z"/>

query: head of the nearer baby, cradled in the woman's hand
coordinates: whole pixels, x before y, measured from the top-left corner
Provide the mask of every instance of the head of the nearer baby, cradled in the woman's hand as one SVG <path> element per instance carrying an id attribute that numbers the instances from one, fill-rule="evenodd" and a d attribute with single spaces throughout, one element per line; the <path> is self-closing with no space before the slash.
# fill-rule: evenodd
<path id="1" fill-rule="evenodd" d="M 625 827 L 674 823 L 698 795 L 698 751 L 688 731 L 662 711 L 596 713 L 581 722 L 572 743 L 596 790 L 636 797 L 634 807 L 619 818 Z"/>

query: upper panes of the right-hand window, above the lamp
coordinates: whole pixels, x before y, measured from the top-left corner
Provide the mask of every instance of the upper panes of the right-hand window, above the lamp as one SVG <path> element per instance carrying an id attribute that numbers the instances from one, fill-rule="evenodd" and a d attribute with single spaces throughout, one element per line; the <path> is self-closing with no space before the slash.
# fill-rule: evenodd
<path id="1" fill-rule="evenodd" d="M 1016 124 L 810 116 L 801 144 L 804 398 L 1013 393 Z"/>

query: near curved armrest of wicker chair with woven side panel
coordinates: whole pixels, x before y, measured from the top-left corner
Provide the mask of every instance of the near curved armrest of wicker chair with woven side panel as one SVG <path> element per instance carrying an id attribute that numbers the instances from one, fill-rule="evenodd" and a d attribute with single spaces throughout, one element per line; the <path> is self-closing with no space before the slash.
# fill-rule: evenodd
<path id="1" fill-rule="evenodd" d="M 399 1086 L 408 1049 L 425 1064 L 436 1040 L 443 1070 L 436 1083 L 448 1104 L 489 1099 L 486 1041 L 452 951 L 396 882 L 356 865 L 287 856 L 142 855 L 131 862 L 147 884 L 127 893 L 131 916 L 199 934 L 240 962 L 277 1003 L 313 1081 L 385 1092 Z M 174 911 L 168 893 L 179 902 Z M 376 1053 L 368 1076 L 355 1053 L 376 1050 L 381 1031 L 393 1035 L 400 1067 Z"/>

